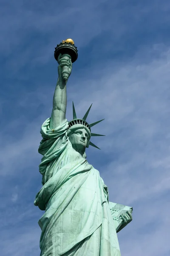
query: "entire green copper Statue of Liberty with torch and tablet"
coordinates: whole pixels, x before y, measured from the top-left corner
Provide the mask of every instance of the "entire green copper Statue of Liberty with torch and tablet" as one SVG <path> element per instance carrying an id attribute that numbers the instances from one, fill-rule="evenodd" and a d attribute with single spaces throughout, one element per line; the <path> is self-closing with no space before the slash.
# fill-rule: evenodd
<path id="1" fill-rule="evenodd" d="M 77 47 L 69 39 L 55 48 L 58 80 L 51 117 L 42 124 L 39 166 L 42 189 L 34 205 L 45 213 L 39 220 L 42 230 L 40 256 L 120 256 L 117 232 L 132 220 L 132 207 L 108 201 L 108 188 L 86 160 L 85 149 L 92 145 L 91 127 L 86 118 L 65 117 L 66 84 Z"/>

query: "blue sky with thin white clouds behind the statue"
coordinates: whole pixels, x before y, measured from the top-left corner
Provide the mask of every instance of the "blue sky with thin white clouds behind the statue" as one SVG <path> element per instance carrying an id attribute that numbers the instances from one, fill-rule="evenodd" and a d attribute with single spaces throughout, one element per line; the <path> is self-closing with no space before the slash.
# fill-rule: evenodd
<path id="1" fill-rule="evenodd" d="M 2 256 L 40 254 L 43 212 L 37 149 L 57 81 L 54 47 L 78 48 L 67 84 L 72 101 L 95 122 L 101 148 L 88 162 L 110 201 L 133 207 L 118 234 L 122 256 L 169 256 L 170 3 L 168 0 L 0 1 L 0 248 Z"/>

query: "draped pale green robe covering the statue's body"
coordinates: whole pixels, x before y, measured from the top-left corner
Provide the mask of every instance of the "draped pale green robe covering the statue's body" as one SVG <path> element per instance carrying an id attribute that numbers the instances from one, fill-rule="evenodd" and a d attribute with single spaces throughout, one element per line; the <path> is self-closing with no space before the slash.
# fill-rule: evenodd
<path id="1" fill-rule="evenodd" d="M 120 256 L 108 204 L 108 189 L 92 165 L 67 136 L 68 122 L 41 128 L 39 153 L 42 189 L 34 204 L 45 210 L 40 218 L 41 256 Z"/>

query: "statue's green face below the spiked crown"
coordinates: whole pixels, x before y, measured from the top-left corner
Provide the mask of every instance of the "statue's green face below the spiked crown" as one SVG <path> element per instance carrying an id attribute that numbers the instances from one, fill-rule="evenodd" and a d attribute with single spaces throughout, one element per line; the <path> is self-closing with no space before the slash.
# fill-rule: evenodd
<path id="1" fill-rule="evenodd" d="M 69 137 L 74 149 L 84 151 L 88 144 L 88 133 L 85 128 L 79 128 Z"/>

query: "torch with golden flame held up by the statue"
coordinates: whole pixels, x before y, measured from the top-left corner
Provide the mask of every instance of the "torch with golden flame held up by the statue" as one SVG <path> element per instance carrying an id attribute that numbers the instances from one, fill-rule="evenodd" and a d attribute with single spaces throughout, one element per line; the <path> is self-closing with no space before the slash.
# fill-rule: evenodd
<path id="1" fill-rule="evenodd" d="M 73 63 L 74 61 L 77 60 L 78 57 L 78 50 L 77 47 L 75 47 L 74 45 L 74 41 L 69 38 L 67 40 L 63 40 L 62 43 L 57 44 L 57 47 L 55 47 L 55 51 L 54 51 L 54 58 L 56 59 L 56 61 L 58 61 L 58 56 L 61 53 L 62 57 L 66 57 L 66 58 L 71 58 L 71 62 Z M 63 66 L 62 67 L 62 79 L 67 81 L 69 77 L 69 72 L 68 72 L 68 67 L 67 66 Z"/>

